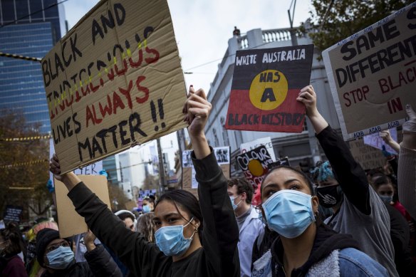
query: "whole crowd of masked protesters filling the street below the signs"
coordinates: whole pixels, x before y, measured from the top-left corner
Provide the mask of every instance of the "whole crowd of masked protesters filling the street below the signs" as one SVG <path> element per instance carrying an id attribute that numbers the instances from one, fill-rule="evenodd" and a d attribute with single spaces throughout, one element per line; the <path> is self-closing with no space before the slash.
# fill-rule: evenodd
<path id="1" fill-rule="evenodd" d="M 416 276 L 416 113 L 406 106 L 398 155 L 365 172 L 316 108 L 311 85 L 297 100 L 306 108 L 328 160 L 308 174 L 269 169 L 254 188 L 227 179 L 204 134 L 212 105 L 189 88 L 189 124 L 198 196 L 185 190 L 146 198 L 142 213 L 108 209 L 73 173 L 50 169 L 90 231 L 61 238 L 43 221 L 25 236 L 14 223 L 0 229 L 1 276 Z"/>

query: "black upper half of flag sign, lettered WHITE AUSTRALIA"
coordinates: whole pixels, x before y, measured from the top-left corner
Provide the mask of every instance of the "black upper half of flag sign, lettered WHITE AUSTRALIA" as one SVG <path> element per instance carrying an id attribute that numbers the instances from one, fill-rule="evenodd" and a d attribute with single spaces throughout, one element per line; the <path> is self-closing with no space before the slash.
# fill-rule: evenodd
<path id="1" fill-rule="evenodd" d="M 232 90 L 248 90 L 264 70 L 278 70 L 288 80 L 288 89 L 309 85 L 313 44 L 241 50 L 236 52 Z"/>

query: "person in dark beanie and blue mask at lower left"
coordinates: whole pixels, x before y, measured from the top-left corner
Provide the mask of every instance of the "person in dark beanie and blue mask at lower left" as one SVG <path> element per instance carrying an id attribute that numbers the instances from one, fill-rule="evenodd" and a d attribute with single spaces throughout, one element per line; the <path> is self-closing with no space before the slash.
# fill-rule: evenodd
<path id="1" fill-rule="evenodd" d="M 87 262 L 77 263 L 71 248 L 71 241 L 61 239 L 59 232 L 53 229 L 42 229 L 36 235 L 36 258 L 46 272 L 42 277 L 49 276 L 122 276 L 102 245 L 95 246 L 95 236 L 85 239 Z"/>

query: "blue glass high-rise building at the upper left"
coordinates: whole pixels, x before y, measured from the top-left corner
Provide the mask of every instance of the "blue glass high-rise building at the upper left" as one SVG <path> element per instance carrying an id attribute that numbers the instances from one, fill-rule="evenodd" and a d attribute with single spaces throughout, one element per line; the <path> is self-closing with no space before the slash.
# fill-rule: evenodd
<path id="1" fill-rule="evenodd" d="M 43 58 L 66 31 L 63 5 L 56 3 L 0 1 L 0 51 Z M 0 112 L 22 113 L 26 123 L 50 132 L 41 63 L 0 57 L 0 75 Z"/>

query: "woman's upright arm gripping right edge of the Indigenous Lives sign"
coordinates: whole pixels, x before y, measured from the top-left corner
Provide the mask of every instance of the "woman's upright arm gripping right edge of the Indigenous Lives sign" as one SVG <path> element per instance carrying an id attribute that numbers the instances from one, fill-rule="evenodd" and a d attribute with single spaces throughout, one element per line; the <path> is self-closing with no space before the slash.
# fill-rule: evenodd
<path id="1" fill-rule="evenodd" d="M 198 181 L 199 205 L 204 218 L 202 245 L 207 266 L 217 276 L 240 276 L 237 243 L 239 229 L 227 194 L 227 179 L 207 143 L 204 127 L 211 104 L 203 90 L 193 88 L 184 108 L 194 152 L 192 161 Z"/>

